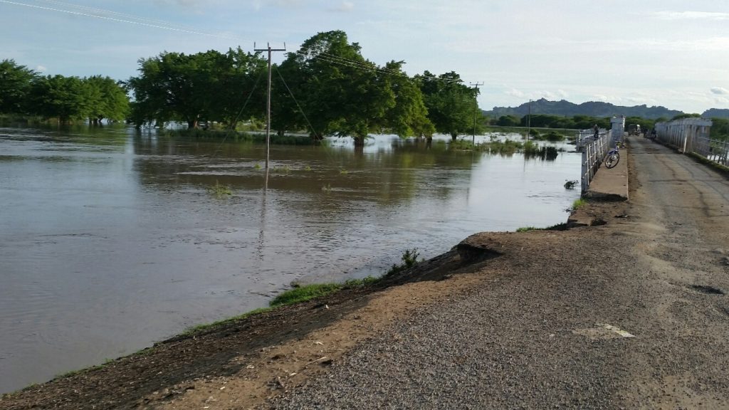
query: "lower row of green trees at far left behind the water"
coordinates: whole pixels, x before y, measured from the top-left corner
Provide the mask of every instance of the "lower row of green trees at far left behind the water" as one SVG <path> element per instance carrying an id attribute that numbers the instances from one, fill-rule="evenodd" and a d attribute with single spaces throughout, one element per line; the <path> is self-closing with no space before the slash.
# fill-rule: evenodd
<path id="1" fill-rule="evenodd" d="M 129 98 L 109 77 L 42 76 L 14 60 L 0 62 L 0 114 L 37 116 L 60 123 L 125 120 Z"/>

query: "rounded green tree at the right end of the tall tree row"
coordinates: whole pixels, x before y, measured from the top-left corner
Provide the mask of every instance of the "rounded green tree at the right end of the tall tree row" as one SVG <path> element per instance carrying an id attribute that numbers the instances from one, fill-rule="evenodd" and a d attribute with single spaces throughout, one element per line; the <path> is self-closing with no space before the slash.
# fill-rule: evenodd
<path id="1" fill-rule="evenodd" d="M 416 76 L 416 81 L 438 132 L 450 134 L 455 141 L 459 134 L 473 130 L 473 113 L 478 109 L 477 89 L 468 88 L 453 71 L 438 77 L 425 71 Z"/>

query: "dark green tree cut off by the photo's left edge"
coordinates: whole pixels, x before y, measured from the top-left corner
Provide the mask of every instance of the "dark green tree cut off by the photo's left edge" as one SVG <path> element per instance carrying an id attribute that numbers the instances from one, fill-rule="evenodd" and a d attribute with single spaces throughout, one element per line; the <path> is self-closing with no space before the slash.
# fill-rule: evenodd
<path id="1" fill-rule="evenodd" d="M 0 114 L 26 114 L 26 101 L 36 71 L 20 66 L 14 60 L 0 62 Z"/>

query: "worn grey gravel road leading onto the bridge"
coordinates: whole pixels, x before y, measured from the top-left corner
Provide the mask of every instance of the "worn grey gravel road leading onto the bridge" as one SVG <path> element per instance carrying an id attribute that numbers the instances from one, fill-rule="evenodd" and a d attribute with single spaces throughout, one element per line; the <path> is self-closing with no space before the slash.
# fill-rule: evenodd
<path id="1" fill-rule="evenodd" d="M 729 409 L 729 182 L 644 139 L 629 153 L 628 217 L 525 236 L 542 250 L 268 406 Z"/>

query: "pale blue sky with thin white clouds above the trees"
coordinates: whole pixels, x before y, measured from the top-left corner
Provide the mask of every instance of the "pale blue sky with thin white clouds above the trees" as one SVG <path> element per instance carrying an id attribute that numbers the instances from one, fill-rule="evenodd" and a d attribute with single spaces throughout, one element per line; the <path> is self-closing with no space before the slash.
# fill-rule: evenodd
<path id="1" fill-rule="evenodd" d="M 729 108 L 729 1 L 0 0 L 0 60 L 48 75 L 126 80 L 163 51 L 295 52 L 332 30 L 379 65 L 483 83 L 481 109 L 538 98 Z"/>

